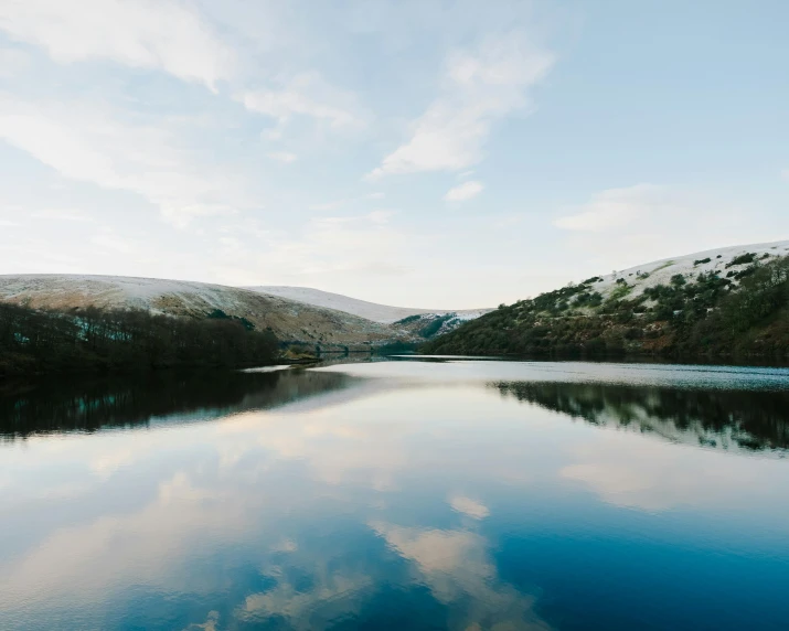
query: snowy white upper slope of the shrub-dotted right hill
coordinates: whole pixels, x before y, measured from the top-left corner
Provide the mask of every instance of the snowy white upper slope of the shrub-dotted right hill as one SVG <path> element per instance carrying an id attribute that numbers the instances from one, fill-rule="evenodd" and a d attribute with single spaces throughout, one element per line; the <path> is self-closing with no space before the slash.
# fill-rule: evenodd
<path id="1" fill-rule="evenodd" d="M 607 298 L 615 288 L 621 285 L 617 280 L 625 280 L 628 286 L 632 287 L 628 292 L 628 298 L 632 299 L 642 293 L 647 287 L 669 285 L 671 277 L 678 274 L 690 279 L 701 272 L 716 271 L 725 277 L 731 271 L 736 272 L 743 267 L 747 267 L 747 263 L 732 265 L 734 259 L 747 254 L 753 254 L 755 260 L 789 256 L 789 240 L 737 245 L 664 258 L 600 276 L 598 277 L 600 280 L 593 284 L 591 287 Z"/>

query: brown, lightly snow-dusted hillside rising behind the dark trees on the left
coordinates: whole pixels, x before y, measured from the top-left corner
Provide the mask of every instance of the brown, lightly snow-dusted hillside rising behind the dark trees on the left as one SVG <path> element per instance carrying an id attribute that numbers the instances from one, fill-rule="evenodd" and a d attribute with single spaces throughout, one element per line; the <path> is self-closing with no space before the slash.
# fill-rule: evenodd
<path id="1" fill-rule="evenodd" d="M 0 300 L 36 309 L 145 309 L 171 316 L 207 317 L 215 310 L 270 328 L 280 341 L 359 350 L 393 340 L 413 341 L 405 330 L 344 311 L 274 295 L 205 282 L 116 276 L 0 276 Z"/>

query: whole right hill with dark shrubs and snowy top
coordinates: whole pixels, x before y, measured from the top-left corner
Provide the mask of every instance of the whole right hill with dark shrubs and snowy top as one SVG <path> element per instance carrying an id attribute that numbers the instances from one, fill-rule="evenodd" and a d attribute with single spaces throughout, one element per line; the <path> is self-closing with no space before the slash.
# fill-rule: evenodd
<path id="1" fill-rule="evenodd" d="M 593 276 L 439 335 L 437 354 L 789 354 L 789 240 Z"/>

